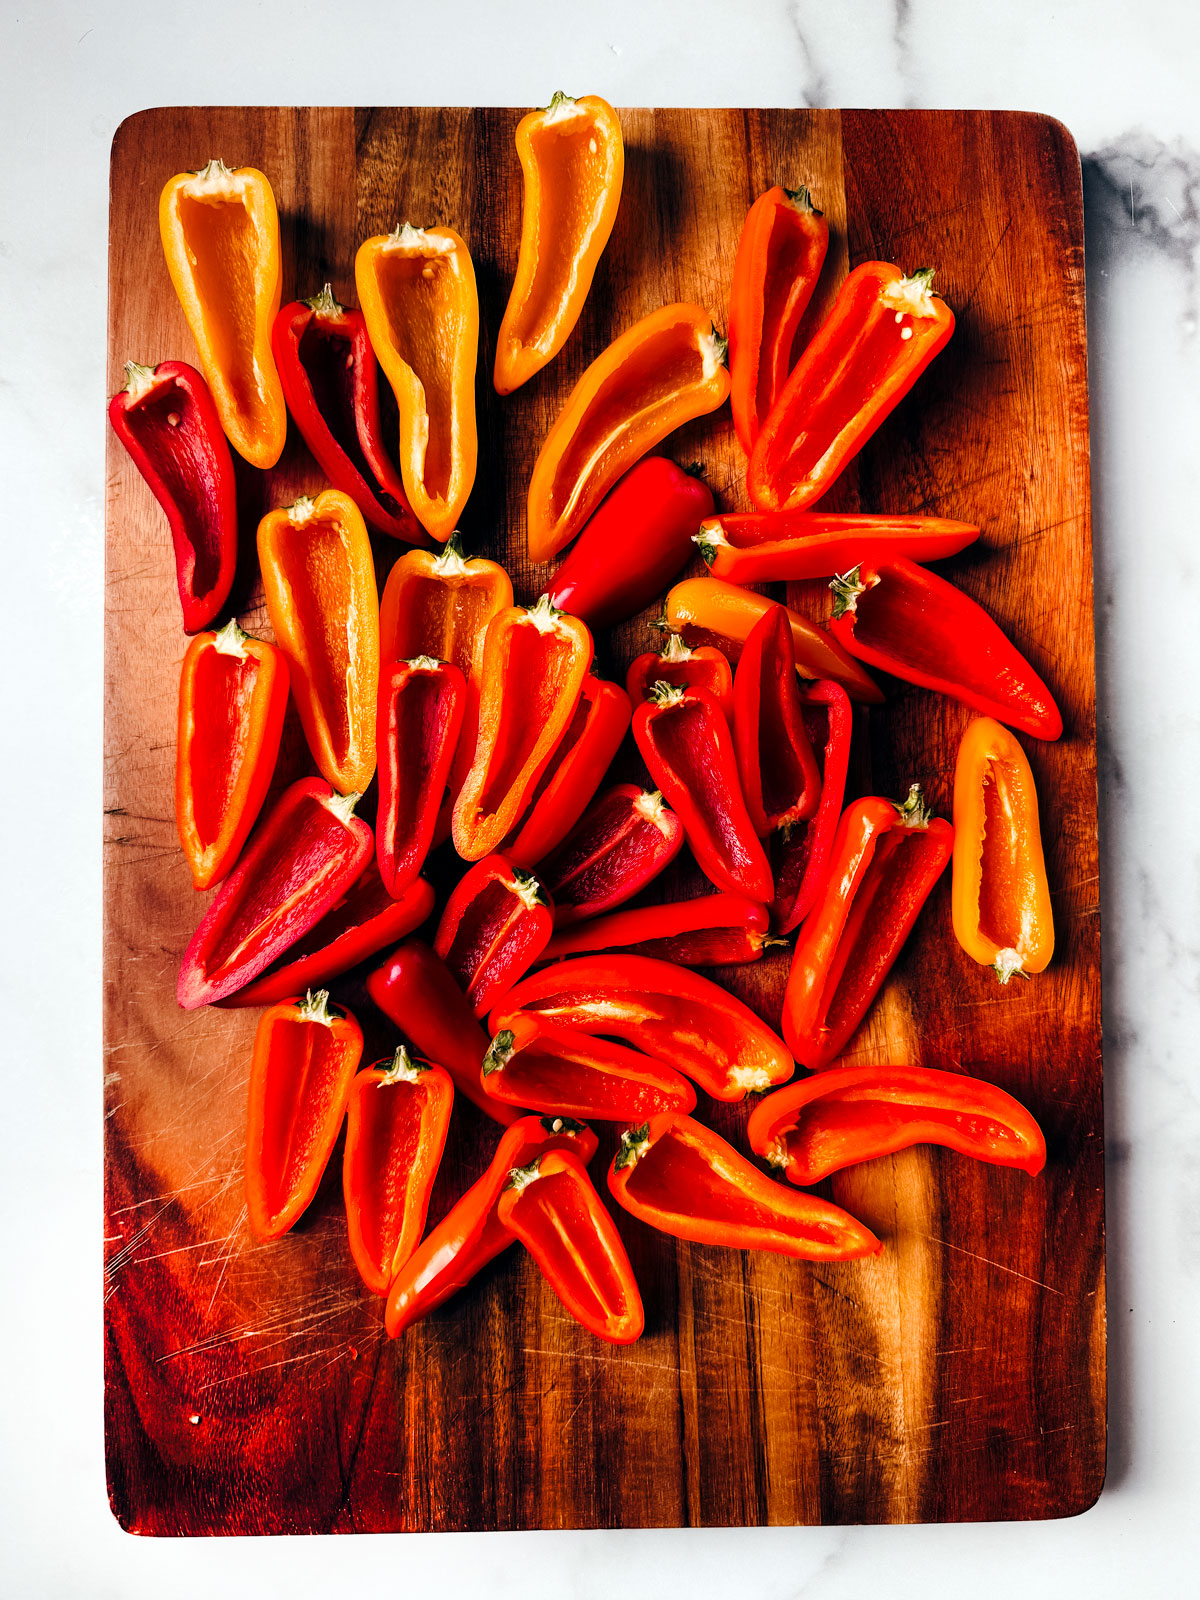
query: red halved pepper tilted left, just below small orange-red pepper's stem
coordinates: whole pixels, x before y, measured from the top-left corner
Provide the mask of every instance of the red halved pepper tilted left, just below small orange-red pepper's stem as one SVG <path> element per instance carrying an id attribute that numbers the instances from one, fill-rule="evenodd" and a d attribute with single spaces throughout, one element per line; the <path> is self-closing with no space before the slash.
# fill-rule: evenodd
<path id="1" fill-rule="evenodd" d="M 634 714 L 634 738 L 701 872 L 730 894 L 770 901 L 771 866 L 746 810 L 730 725 L 712 694 L 656 685 Z"/>

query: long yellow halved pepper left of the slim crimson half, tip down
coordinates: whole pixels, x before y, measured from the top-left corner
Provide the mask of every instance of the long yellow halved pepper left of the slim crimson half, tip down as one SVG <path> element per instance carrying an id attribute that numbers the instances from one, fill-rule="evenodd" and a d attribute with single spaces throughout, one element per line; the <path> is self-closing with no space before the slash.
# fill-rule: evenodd
<path id="1" fill-rule="evenodd" d="M 366 525 L 341 490 L 301 496 L 258 525 L 267 616 L 322 776 L 362 794 L 374 776 L 379 592 Z"/>

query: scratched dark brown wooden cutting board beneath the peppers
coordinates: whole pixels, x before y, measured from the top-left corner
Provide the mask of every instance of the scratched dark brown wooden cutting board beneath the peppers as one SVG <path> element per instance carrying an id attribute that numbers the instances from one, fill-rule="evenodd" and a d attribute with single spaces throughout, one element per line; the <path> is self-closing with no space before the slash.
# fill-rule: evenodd
<path id="1" fill-rule="evenodd" d="M 1006 990 L 950 934 L 949 874 L 851 1059 L 976 1069 L 1027 1101 L 1035 1181 L 918 1149 L 824 1192 L 885 1240 L 810 1267 L 704 1250 L 618 1213 L 646 1301 L 613 1349 L 570 1322 L 531 1261 L 501 1258 L 402 1341 L 346 1248 L 338 1157 L 309 1216 L 256 1245 L 242 1203 L 256 1014 L 174 1005 L 205 898 L 174 838 L 184 651 L 166 526 L 109 438 L 106 650 L 106 1427 L 109 1490 L 141 1533 L 381 1531 L 1058 1517 L 1104 1475 L 1104 1230 L 1091 536 L 1083 229 L 1075 149 L 1048 118 L 955 112 L 629 110 L 613 240 L 562 355 L 507 400 L 494 336 L 520 237 L 507 109 L 144 112 L 112 152 L 109 390 L 122 363 L 194 358 L 157 235 L 163 181 L 210 155 L 261 166 L 283 222 L 283 298 L 330 278 L 354 301 L 357 243 L 402 219 L 467 238 L 482 301 L 480 470 L 469 547 L 518 598 L 523 491 L 584 366 L 675 299 L 726 326 L 741 221 L 806 182 L 832 224 L 816 315 L 848 264 L 938 267 L 958 317 L 934 368 L 837 490 L 842 509 L 976 520 L 944 565 L 1053 685 L 1067 733 L 1022 741 L 1043 808 L 1053 966 Z M 742 507 L 728 408 L 664 446 Z M 258 517 L 320 478 L 294 435 L 242 474 L 237 606 L 267 632 Z M 386 573 L 400 546 L 376 541 Z M 699 568 L 698 568 L 699 570 Z M 789 597 L 824 614 L 822 586 Z M 650 648 L 650 614 L 597 640 L 608 670 Z M 968 712 L 888 685 L 859 718 L 856 792 L 920 779 L 946 814 Z M 637 762 L 622 755 L 630 773 Z M 288 726 L 278 781 L 306 771 Z M 445 883 L 445 858 L 434 877 Z M 667 893 L 699 893 L 680 864 Z M 778 1021 L 786 957 L 722 974 Z M 354 978 L 368 1050 L 395 1042 Z M 738 1139 L 744 1107 L 702 1107 Z M 456 1110 L 430 1219 L 483 1168 L 491 1125 Z M 594 1171 L 602 1174 L 611 1138 Z M 600 1178 L 603 1186 L 603 1179 Z"/>

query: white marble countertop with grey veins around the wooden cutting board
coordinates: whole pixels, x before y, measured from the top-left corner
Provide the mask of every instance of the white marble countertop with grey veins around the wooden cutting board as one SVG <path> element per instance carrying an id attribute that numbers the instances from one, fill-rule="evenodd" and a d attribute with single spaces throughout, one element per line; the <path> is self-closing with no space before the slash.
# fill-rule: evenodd
<path id="1" fill-rule="evenodd" d="M 21 1597 L 1182 1595 L 1200 1557 L 1195 0 L 6 0 L 0 1538 Z M 968 106 L 1083 154 L 1099 635 L 1109 1483 L 1062 1523 L 131 1539 L 104 1496 L 99 811 L 109 142 L 149 104 Z M 62 1019 L 69 1032 L 62 1034 Z M 53 1019 L 53 1034 L 48 1021 Z M 53 1050 L 48 1040 L 53 1037 Z M 1189 1043 L 1190 1040 L 1190 1043 Z"/>

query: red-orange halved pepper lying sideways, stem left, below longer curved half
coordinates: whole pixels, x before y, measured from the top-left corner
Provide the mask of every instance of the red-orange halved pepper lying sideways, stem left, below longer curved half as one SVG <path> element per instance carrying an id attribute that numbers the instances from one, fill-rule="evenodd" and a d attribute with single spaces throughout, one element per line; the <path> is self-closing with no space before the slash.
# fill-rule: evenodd
<path id="1" fill-rule="evenodd" d="M 496 1034 L 482 1080 L 509 1106 L 584 1122 L 688 1112 L 696 1104 L 691 1083 L 664 1061 L 531 1014 L 514 1016 Z"/>

